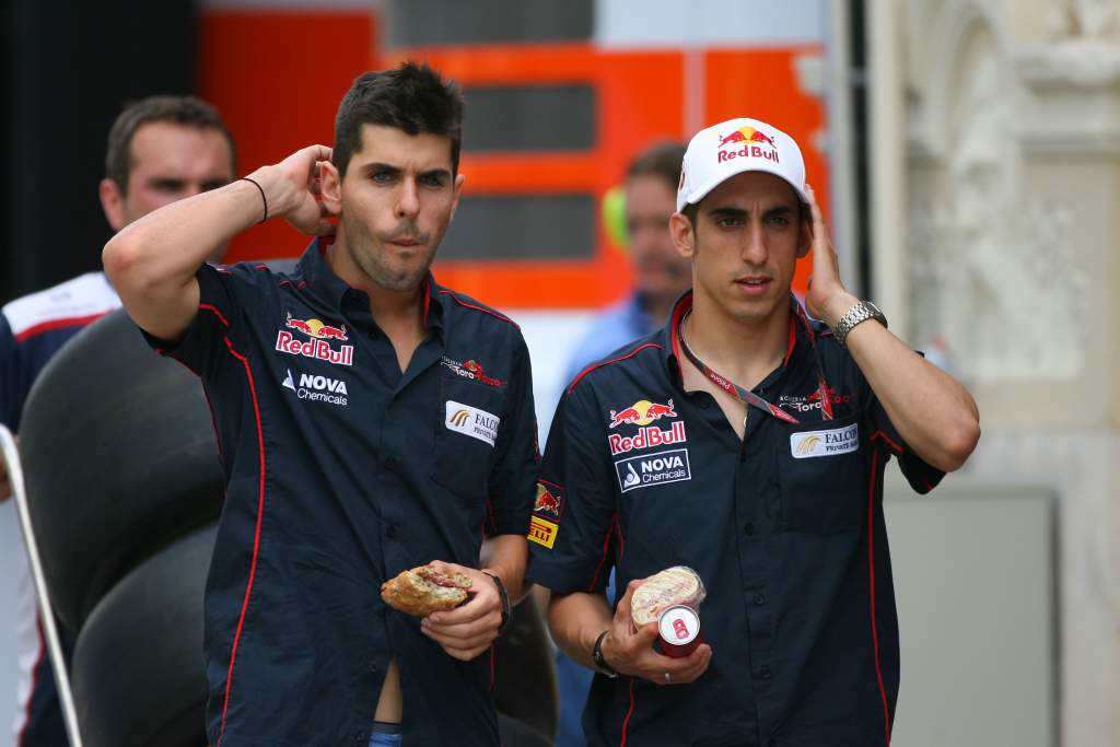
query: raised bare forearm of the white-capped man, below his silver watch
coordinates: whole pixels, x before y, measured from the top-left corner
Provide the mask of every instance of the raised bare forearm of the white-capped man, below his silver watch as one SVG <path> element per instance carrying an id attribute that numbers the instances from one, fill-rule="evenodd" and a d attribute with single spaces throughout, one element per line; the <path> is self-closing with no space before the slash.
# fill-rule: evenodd
<path id="1" fill-rule="evenodd" d="M 827 310 L 825 324 L 834 327 L 855 302 L 846 298 Z M 844 344 L 909 448 L 944 471 L 963 465 L 980 438 L 968 390 L 875 321 L 857 325 Z"/>

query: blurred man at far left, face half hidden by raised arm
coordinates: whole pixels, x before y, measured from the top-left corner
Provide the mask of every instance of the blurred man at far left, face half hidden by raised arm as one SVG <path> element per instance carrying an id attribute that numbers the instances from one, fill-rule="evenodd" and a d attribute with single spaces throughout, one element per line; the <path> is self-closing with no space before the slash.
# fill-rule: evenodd
<path id="1" fill-rule="evenodd" d="M 114 231 L 176 199 L 227 184 L 233 139 L 214 109 L 194 96 L 151 96 L 128 104 L 109 133 L 99 194 Z M 215 248 L 221 255 L 224 246 Z M 120 307 L 101 272 L 90 272 L 4 305 L 0 312 L 0 422 L 13 432 L 39 372 L 87 324 Z M 9 488 L 0 464 L 0 501 Z M 24 553 L 18 601 L 20 682 L 16 745 L 67 744 L 54 673 L 39 633 L 35 588 Z"/>

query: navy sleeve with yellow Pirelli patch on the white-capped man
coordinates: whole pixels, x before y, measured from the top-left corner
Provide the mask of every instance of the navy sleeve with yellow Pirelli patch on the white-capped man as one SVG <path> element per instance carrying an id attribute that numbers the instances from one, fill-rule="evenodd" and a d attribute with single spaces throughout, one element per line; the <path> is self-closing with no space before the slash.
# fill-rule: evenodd
<path id="1" fill-rule="evenodd" d="M 594 399 L 585 382 L 560 400 L 533 503 L 526 577 L 557 594 L 604 591 L 616 557 L 615 483 Z"/>

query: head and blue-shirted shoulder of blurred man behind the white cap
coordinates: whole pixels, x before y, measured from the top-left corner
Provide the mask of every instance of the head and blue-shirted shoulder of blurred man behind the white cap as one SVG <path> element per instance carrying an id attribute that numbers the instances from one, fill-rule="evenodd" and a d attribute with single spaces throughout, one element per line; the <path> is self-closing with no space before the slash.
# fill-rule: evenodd
<path id="1" fill-rule="evenodd" d="M 568 362 L 566 383 L 592 361 L 664 324 L 673 301 L 692 283 L 692 269 L 669 233 L 683 158 L 684 146 L 664 142 L 638 153 L 626 169 L 624 216 L 634 290 L 591 323 Z"/>

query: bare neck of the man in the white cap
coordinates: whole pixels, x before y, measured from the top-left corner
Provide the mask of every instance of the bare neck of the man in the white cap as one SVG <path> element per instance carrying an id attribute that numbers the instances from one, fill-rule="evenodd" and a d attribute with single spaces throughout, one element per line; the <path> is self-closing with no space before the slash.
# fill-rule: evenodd
<path id="1" fill-rule="evenodd" d="M 785 357 L 790 307 L 783 304 L 766 318 L 747 320 L 731 317 L 703 296 L 693 295 L 684 337 L 701 361 L 752 389 Z"/>

